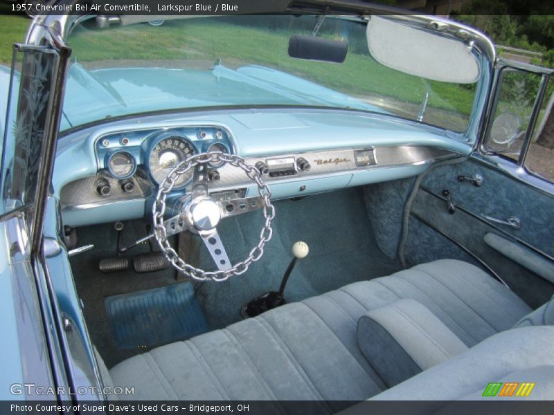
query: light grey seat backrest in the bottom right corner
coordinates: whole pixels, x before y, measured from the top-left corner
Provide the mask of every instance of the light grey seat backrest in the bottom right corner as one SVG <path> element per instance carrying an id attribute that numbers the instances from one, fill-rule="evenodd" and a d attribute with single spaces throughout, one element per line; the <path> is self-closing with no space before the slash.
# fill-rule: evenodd
<path id="1" fill-rule="evenodd" d="M 535 382 L 530 397 L 551 400 L 554 399 L 553 340 L 554 326 L 508 330 L 373 399 L 475 400 L 481 398 L 489 382 Z"/>

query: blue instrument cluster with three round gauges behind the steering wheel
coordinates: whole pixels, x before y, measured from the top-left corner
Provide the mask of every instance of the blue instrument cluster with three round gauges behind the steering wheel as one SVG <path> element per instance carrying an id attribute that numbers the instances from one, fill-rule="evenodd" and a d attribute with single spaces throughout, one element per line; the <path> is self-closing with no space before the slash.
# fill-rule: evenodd
<path id="1" fill-rule="evenodd" d="M 181 161 L 209 151 L 233 152 L 229 131 L 216 126 L 191 126 L 167 129 L 119 131 L 100 137 L 96 142 L 99 176 L 117 179 L 125 192 L 125 184 L 132 191 L 133 177 L 150 178 L 159 185 Z M 211 165 L 213 169 L 220 165 Z M 182 189 L 192 181 L 193 170 L 179 176 L 174 189 Z M 104 180 L 97 184 L 100 196 L 110 189 Z"/>

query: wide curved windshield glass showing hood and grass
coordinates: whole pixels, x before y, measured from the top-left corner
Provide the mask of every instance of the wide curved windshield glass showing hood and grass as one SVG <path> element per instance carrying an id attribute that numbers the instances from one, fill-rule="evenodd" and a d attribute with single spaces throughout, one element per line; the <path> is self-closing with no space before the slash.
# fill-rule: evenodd
<path id="1" fill-rule="evenodd" d="M 465 131 L 475 84 L 406 75 L 368 53 L 366 24 L 315 16 L 229 16 L 96 28 L 68 39 L 65 128 L 132 113 L 237 106 L 321 106 L 388 113 Z M 318 27 L 319 26 L 319 27 Z M 348 44 L 341 64 L 289 57 L 292 35 Z"/>

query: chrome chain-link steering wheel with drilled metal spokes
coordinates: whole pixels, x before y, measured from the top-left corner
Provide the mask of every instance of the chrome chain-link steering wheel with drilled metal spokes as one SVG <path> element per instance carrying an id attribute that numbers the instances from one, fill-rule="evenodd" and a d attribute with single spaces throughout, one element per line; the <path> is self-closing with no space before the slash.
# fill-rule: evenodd
<path id="1" fill-rule="evenodd" d="M 242 169 L 247 176 L 258 185 L 258 196 L 233 199 L 231 201 L 217 201 L 208 193 L 208 163 L 229 163 Z M 175 186 L 175 182 L 182 174 L 194 169 L 192 192 L 181 199 L 179 212 L 170 219 L 164 219 L 166 212 L 166 198 Z M 271 191 L 262 180 L 256 167 L 249 165 L 244 158 L 222 151 L 195 154 L 181 161 L 163 179 L 159 185 L 156 200 L 152 206 L 154 220 L 154 237 L 159 243 L 163 255 L 172 266 L 189 278 L 206 281 L 224 281 L 233 275 L 240 275 L 248 269 L 252 262 L 258 261 L 264 253 L 265 243 L 269 242 L 273 234 L 271 221 L 275 216 L 275 208 L 271 205 Z M 217 233 L 217 224 L 238 214 L 263 210 L 265 223 L 260 232 L 260 241 L 253 247 L 243 261 L 231 265 L 223 243 Z M 205 271 L 187 264 L 179 257 L 175 249 L 170 246 L 168 237 L 180 232 L 193 232 L 202 237 L 204 245 L 217 266 L 216 271 Z"/>

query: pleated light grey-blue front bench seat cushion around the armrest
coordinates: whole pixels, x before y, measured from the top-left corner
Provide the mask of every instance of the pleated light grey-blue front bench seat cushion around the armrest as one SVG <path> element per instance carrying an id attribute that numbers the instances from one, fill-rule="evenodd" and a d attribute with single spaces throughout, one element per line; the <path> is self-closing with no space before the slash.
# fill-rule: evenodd
<path id="1" fill-rule="evenodd" d="M 158 347 L 109 373 L 135 388 L 132 399 L 365 400 L 386 385 L 358 347 L 357 322 L 402 298 L 427 307 L 467 347 L 531 311 L 479 268 L 440 260 Z M 321 412 L 345 405 L 321 402 Z"/>

